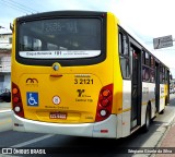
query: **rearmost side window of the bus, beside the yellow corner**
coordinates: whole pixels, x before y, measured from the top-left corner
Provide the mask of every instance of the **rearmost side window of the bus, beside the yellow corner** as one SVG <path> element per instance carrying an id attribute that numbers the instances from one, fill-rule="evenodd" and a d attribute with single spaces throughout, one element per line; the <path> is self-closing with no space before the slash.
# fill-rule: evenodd
<path id="1" fill-rule="evenodd" d="M 119 33 L 119 56 L 122 77 L 130 78 L 128 39 L 124 33 Z"/>

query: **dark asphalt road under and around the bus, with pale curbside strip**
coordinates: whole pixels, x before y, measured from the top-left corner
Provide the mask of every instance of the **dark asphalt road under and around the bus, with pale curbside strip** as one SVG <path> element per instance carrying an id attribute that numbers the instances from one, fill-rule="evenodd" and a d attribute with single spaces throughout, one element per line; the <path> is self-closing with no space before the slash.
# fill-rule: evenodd
<path id="1" fill-rule="evenodd" d="M 84 156 L 102 156 L 102 157 L 130 157 L 133 153 L 127 154 L 130 149 L 140 149 L 144 147 L 156 147 L 174 118 L 175 112 L 175 95 L 171 95 L 171 105 L 166 106 L 165 113 L 155 118 L 148 133 L 140 131 L 132 135 L 119 138 L 90 138 L 74 137 L 54 134 L 36 134 L 20 133 L 10 129 L 0 133 L 0 147 L 18 147 L 18 148 L 40 148 L 46 153 L 56 150 L 56 156 L 72 156 L 73 152 L 80 153 L 80 157 Z M 9 122 L 10 124 L 10 122 Z M 50 149 L 48 149 L 50 148 Z M 122 152 L 122 148 L 125 148 Z M 116 154 L 118 152 L 122 154 Z M 59 152 L 59 154 L 58 154 Z M 126 153 L 126 154 L 124 154 Z M 150 156 L 151 154 L 135 155 L 137 157 Z M 44 155 L 45 156 L 45 155 Z M 46 155 L 54 156 L 54 154 Z M 78 154 L 77 154 L 78 156 Z"/>

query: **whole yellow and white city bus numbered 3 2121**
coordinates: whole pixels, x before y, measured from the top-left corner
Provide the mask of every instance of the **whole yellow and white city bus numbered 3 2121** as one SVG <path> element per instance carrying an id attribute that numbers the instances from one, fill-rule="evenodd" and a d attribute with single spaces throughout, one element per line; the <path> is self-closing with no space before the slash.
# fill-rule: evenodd
<path id="1" fill-rule="evenodd" d="M 147 131 L 168 104 L 168 73 L 110 12 L 18 17 L 13 130 L 108 138 Z"/>

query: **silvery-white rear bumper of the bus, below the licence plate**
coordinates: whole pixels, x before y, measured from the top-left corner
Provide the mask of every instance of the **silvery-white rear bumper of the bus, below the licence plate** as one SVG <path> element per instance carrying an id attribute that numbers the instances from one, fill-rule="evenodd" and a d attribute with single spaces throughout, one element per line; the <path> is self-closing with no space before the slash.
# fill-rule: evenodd
<path id="1" fill-rule="evenodd" d="M 96 123 L 60 124 L 23 119 L 12 111 L 13 130 L 20 132 L 116 138 L 117 117 Z"/>

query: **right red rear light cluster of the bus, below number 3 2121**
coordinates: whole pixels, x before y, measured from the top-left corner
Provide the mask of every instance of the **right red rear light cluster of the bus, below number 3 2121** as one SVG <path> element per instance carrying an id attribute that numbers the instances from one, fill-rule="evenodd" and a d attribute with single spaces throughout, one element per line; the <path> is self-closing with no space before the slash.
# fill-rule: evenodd
<path id="1" fill-rule="evenodd" d="M 103 121 L 112 113 L 113 105 L 113 84 L 104 86 L 98 96 L 95 121 Z"/>

